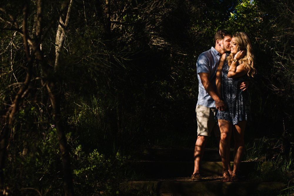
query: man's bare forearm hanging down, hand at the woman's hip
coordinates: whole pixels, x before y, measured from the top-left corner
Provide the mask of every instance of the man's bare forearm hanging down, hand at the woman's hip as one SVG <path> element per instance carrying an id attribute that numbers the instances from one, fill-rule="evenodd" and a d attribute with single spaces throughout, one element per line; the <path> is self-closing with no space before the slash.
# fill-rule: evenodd
<path id="1" fill-rule="evenodd" d="M 221 98 L 216 94 L 216 91 L 213 89 L 213 86 L 211 82 L 209 81 L 210 74 L 201 72 L 199 73 L 199 76 L 200 76 L 201 83 L 203 84 L 204 89 L 206 90 L 208 95 L 210 95 L 213 98 L 213 100 L 215 100 L 216 109 L 225 110 L 227 108 L 227 105 L 225 104 L 225 102 L 223 102 L 223 100 L 221 100 Z"/>

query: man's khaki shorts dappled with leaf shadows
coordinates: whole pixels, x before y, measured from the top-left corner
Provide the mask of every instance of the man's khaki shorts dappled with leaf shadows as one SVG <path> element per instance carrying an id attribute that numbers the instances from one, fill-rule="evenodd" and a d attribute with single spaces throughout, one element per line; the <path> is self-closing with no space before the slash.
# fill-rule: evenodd
<path id="1" fill-rule="evenodd" d="M 214 119 L 216 108 L 196 106 L 197 135 L 210 136 L 212 130 L 216 137 L 220 137 L 220 128 Z"/>

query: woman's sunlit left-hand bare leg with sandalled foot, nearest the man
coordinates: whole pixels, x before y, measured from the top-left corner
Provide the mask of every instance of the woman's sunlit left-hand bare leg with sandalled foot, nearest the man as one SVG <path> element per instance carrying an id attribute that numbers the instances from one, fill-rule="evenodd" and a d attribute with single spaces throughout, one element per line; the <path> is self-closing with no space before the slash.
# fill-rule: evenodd
<path id="1" fill-rule="evenodd" d="M 220 127 L 220 158 L 222 161 L 223 171 L 228 169 L 229 157 L 230 157 L 230 138 L 232 135 L 232 124 L 227 120 L 218 120 Z M 223 182 L 228 182 L 228 171 L 223 172 Z"/>

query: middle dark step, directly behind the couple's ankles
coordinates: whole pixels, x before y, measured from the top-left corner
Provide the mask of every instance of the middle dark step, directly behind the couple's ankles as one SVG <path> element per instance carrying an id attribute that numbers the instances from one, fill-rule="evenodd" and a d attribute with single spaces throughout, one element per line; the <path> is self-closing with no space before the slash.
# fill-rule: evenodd
<path id="1" fill-rule="evenodd" d="M 247 176 L 254 171 L 260 162 L 241 162 L 239 175 Z M 137 174 L 145 178 L 169 178 L 169 177 L 190 177 L 194 170 L 192 161 L 137 161 L 133 162 L 133 168 Z M 231 165 L 233 163 L 231 162 Z M 202 162 L 200 165 L 201 175 L 221 175 L 221 162 Z"/>

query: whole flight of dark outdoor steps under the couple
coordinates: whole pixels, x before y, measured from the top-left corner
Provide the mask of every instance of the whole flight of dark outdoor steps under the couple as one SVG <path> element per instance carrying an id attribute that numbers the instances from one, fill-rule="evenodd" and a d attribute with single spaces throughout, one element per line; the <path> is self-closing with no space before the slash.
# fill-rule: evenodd
<path id="1" fill-rule="evenodd" d="M 233 155 L 233 152 L 230 154 Z M 233 157 L 230 159 L 233 161 Z M 133 162 L 136 174 L 141 175 L 140 181 L 126 182 L 125 185 L 163 196 L 263 195 L 264 192 L 283 189 L 283 182 L 248 180 L 248 174 L 254 171 L 256 164 L 260 163 L 241 163 L 238 175 L 240 182 L 221 182 L 222 166 L 218 149 L 207 148 L 200 166 L 203 180 L 195 182 L 191 181 L 193 149 L 148 148 L 141 153 L 140 160 Z"/>

